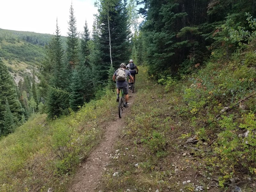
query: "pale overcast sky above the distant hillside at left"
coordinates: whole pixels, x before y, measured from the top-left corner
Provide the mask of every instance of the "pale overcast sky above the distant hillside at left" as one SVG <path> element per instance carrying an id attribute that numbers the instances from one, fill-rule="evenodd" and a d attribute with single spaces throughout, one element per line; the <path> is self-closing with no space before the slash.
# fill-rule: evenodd
<path id="1" fill-rule="evenodd" d="M 85 20 L 92 31 L 95 0 L 1 0 L 0 28 L 55 34 L 58 17 L 60 34 L 67 36 L 71 2 L 77 31 L 84 30 Z"/>

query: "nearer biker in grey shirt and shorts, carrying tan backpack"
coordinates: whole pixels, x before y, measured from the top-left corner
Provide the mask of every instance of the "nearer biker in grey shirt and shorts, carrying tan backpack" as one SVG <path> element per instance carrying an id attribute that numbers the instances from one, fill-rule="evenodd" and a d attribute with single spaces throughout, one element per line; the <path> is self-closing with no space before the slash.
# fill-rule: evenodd
<path id="1" fill-rule="evenodd" d="M 121 63 L 120 68 L 118 68 L 116 70 L 116 72 L 114 73 L 112 79 L 113 79 L 113 81 L 116 81 L 117 80 L 116 76 L 117 76 L 117 73 L 118 73 L 117 71 L 118 70 L 124 70 L 124 72 L 126 74 L 125 80 L 123 80 L 123 81 L 117 80 L 116 81 L 116 87 L 117 87 L 117 89 L 116 89 L 116 93 L 117 93 L 116 101 L 117 102 L 119 101 L 120 89 L 123 88 L 124 94 L 125 94 L 125 104 L 124 104 L 124 107 L 127 107 L 128 100 L 129 100 L 129 95 L 128 95 L 129 89 L 128 89 L 128 84 L 127 84 L 126 77 L 129 76 L 129 78 L 132 80 L 132 84 L 133 84 L 133 77 L 132 77 L 131 73 L 128 70 L 126 70 L 125 68 L 126 68 L 126 64 L 125 63 Z"/>

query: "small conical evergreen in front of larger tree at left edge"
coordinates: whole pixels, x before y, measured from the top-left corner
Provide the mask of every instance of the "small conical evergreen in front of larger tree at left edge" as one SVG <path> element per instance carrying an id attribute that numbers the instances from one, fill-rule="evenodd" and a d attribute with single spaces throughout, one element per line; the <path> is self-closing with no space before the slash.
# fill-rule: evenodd
<path id="1" fill-rule="evenodd" d="M 3 135 L 8 135 L 9 133 L 13 132 L 14 128 L 15 128 L 15 121 L 14 121 L 15 117 L 13 116 L 11 109 L 10 109 L 10 105 L 8 103 L 8 101 L 5 101 L 5 111 L 4 111 L 4 122 L 3 122 L 3 130 L 0 130 L 0 135 L 1 132 L 3 133 Z"/>

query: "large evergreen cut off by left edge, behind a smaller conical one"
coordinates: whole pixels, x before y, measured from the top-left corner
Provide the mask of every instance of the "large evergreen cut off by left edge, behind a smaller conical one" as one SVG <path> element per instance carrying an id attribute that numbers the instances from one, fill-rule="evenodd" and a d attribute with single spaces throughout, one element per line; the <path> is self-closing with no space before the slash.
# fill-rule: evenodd
<path id="1" fill-rule="evenodd" d="M 15 87 L 16 85 L 12 76 L 0 58 L 0 132 L 3 132 L 4 128 L 6 100 L 14 116 L 14 123 L 19 125 L 22 120 L 24 109 L 21 107 L 20 101 L 18 100 Z"/>

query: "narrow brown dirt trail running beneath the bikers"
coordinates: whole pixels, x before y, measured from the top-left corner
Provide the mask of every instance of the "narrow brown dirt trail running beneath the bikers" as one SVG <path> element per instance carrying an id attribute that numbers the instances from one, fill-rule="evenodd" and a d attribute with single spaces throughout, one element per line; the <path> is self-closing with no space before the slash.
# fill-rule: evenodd
<path id="1" fill-rule="evenodd" d="M 81 163 L 81 166 L 76 172 L 72 180 L 68 192 L 92 192 L 100 191 L 99 183 L 101 181 L 101 175 L 104 168 L 110 162 L 110 154 L 113 153 L 114 144 L 117 138 L 120 137 L 120 132 L 125 126 L 124 117 L 129 113 L 132 106 L 135 93 L 130 93 L 132 97 L 129 98 L 129 107 L 124 108 L 122 118 L 118 117 L 118 110 L 116 107 L 116 120 L 109 122 L 109 126 L 106 127 L 104 138 L 98 146 L 96 146 L 89 157 Z M 116 102 L 116 106 L 117 106 Z M 112 154 L 114 155 L 114 154 Z"/>

